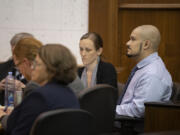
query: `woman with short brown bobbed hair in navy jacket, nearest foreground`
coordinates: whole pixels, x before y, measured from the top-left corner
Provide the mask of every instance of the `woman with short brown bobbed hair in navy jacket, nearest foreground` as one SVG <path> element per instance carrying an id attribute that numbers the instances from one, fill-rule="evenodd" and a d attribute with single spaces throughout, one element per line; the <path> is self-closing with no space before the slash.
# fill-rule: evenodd
<path id="1" fill-rule="evenodd" d="M 27 135 L 42 112 L 79 108 L 74 92 L 67 86 L 76 78 L 77 64 L 72 53 L 60 44 L 41 47 L 32 64 L 31 80 L 41 87 L 26 96 L 9 115 L 6 134 Z"/>

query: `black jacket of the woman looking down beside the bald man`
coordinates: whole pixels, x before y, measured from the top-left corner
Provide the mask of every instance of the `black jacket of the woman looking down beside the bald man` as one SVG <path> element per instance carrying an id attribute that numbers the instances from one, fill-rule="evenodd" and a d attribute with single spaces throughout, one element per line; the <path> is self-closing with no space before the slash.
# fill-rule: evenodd
<path id="1" fill-rule="evenodd" d="M 81 78 L 84 67 L 78 69 L 78 75 Z M 114 66 L 110 63 L 100 60 L 97 69 L 97 84 L 109 84 L 117 88 L 117 73 Z"/>

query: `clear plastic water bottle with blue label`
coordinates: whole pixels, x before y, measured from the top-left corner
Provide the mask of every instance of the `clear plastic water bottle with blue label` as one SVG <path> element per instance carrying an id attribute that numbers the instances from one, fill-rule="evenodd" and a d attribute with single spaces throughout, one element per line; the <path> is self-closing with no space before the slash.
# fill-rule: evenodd
<path id="1" fill-rule="evenodd" d="M 14 107 L 15 79 L 12 72 L 8 72 L 5 81 L 5 106 Z"/>

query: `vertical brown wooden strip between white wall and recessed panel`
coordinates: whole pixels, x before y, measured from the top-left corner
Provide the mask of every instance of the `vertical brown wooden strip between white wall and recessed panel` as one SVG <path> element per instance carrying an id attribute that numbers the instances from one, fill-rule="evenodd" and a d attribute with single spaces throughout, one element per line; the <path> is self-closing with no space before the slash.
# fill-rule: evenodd
<path id="1" fill-rule="evenodd" d="M 89 31 L 99 33 L 104 41 L 103 57 L 114 63 L 118 50 L 118 0 L 89 0 Z"/>

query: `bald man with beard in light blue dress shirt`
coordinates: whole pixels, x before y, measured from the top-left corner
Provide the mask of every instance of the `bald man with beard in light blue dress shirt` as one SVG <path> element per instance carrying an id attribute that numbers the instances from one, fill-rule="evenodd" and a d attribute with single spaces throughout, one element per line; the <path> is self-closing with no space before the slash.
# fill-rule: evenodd
<path id="1" fill-rule="evenodd" d="M 132 31 L 126 54 L 136 60 L 138 70 L 116 106 L 118 115 L 143 117 L 145 102 L 169 100 L 172 78 L 157 53 L 160 39 L 160 32 L 153 25 L 142 25 Z"/>

